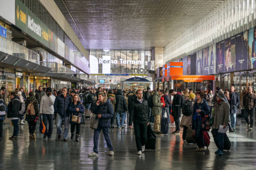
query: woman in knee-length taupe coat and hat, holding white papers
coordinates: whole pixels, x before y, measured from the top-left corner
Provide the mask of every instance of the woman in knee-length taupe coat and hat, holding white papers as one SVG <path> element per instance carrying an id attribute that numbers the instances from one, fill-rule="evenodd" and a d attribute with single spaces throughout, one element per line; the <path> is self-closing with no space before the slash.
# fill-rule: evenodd
<path id="1" fill-rule="evenodd" d="M 213 110 L 213 124 L 212 130 L 214 134 L 217 136 L 218 143 L 216 143 L 218 150 L 215 151 L 215 154 L 223 155 L 223 147 L 224 147 L 224 133 L 218 133 L 220 125 L 223 125 L 223 129 L 228 125 L 228 117 L 229 117 L 229 105 L 225 102 L 225 95 L 222 92 L 218 92 L 217 94 L 217 103 L 214 105 Z"/>

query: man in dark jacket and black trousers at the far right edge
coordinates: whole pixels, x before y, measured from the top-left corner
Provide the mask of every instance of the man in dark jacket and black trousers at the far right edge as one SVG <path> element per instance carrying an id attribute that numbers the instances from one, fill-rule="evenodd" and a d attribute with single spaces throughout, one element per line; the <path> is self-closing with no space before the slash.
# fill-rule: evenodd
<path id="1" fill-rule="evenodd" d="M 244 119 L 247 123 L 247 129 L 253 130 L 254 110 L 256 107 L 256 94 L 252 87 L 248 87 L 246 95 L 243 96 Z M 250 115 L 250 122 L 248 116 Z"/>

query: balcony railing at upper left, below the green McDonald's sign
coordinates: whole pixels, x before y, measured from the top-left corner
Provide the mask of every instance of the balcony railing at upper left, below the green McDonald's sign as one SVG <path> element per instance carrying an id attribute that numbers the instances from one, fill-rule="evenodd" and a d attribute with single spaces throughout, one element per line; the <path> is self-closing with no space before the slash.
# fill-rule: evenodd
<path id="1" fill-rule="evenodd" d="M 0 51 L 17 57 L 22 57 L 25 60 L 39 64 L 40 57 L 38 53 L 29 50 L 16 42 L 8 40 L 7 38 L 0 36 Z"/>

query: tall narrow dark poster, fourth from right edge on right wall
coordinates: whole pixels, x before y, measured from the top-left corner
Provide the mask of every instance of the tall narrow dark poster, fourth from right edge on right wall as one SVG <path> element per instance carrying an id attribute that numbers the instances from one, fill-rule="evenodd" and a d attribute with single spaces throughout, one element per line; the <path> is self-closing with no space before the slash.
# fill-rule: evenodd
<path id="1" fill-rule="evenodd" d="M 216 73 L 222 73 L 225 72 L 225 40 L 216 46 Z"/>

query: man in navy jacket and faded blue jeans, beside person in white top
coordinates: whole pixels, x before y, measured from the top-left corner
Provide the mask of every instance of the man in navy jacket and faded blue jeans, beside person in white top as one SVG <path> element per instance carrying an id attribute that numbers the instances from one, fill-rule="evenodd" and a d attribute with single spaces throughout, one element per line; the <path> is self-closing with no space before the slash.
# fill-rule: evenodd
<path id="1" fill-rule="evenodd" d="M 67 142 L 69 134 L 69 104 L 72 102 L 72 98 L 67 95 L 67 88 L 62 89 L 62 94 L 58 95 L 54 101 L 54 114 L 56 114 L 56 128 L 58 133 L 58 140 L 61 138 L 62 130 L 61 123 L 64 118 L 64 133 L 63 140 Z"/>

